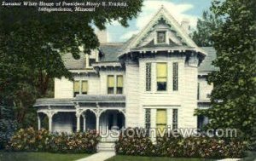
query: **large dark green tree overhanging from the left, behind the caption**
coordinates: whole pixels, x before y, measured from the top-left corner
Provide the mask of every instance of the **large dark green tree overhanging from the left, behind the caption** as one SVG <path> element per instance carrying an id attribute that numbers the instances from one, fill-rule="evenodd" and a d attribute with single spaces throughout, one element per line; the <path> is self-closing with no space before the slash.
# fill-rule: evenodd
<path id="1" fill-rule="evenodd" d="M 23 123 L 34 101 L 48 95 L 53 78 L 72 79 L 61 55 L 72 53 L 79 59 L 79 47 L 84 54 L 90 54 L 91 49 L 99 46 L 94 26 L 102 30 L 113 20 L 128 26 L 127 21 L 137 16 L 143 3 L 120 1 L 127 7 L 98 7 L 96 12 L 73 13 L 42 13 L 32 7 L 1 6 L 0 105 L 17 106 L 17 121 Z M 108 2 L 111 1 L 105 1 Z"/>

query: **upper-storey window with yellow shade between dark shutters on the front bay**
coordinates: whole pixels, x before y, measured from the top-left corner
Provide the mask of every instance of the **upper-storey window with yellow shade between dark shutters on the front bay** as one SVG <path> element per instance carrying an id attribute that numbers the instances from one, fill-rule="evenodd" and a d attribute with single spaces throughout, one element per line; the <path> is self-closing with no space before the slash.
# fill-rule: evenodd
<path id="1" fill-rule="evenodd" d="M 157 81 L 157 90 L 164 91 L 166 90 L 167 85 L 167 63 L 157 63 L 156 64 L 156 81 Z"/>

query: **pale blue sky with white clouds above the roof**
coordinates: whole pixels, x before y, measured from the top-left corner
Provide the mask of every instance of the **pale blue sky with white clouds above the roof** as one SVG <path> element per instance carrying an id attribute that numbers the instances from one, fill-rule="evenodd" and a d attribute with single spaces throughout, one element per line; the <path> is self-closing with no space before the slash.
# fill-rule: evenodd
<path id="1" fill-rule="evenodd" d="M 108 42 L 125 42 L 133 34 L 140 32 L 161 5 L 164 5 L 178 22 L 189 19 L 193 29 L 197 19 L 201 18 L 202 12 L 210 8 L 211 0 L 144 0 L 142 12 L 138 14 L 137 18 L 129 20 L 129 27 L 120 26 L 116 21 L 107 26 Z"/>

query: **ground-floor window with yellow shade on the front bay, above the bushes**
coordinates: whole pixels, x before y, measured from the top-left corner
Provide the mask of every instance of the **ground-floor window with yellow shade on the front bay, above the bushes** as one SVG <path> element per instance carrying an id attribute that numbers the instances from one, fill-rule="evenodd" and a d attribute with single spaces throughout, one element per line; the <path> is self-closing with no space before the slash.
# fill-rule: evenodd
<path id="1" fill-rule="evenodd" d="M 163 131 L 167 125 L 166 109 L 157 109 L 156 111 L 156 128 L 157 131 Z"/>

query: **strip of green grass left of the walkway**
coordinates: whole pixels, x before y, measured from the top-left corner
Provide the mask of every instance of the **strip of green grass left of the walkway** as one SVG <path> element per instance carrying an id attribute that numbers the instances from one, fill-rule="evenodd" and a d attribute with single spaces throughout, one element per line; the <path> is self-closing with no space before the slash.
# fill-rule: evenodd
<path id="1" fill-rule="evenodd" d="M 49 152 L 0 152 L 0 161 L 72 161 L 90 154 L 60 154 Z"/>

